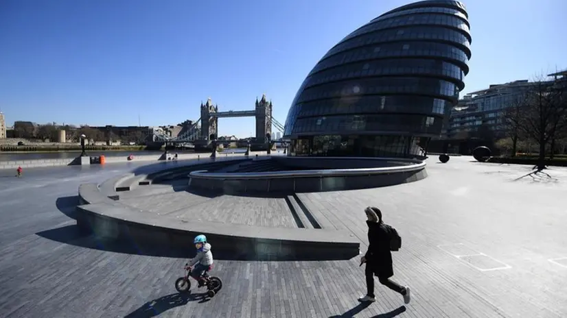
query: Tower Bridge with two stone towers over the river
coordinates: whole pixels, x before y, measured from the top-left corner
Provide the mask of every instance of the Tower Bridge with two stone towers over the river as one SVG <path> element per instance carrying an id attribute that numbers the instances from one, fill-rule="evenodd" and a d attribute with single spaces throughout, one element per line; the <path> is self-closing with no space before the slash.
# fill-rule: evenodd
<path id="1" fill-rule="evenodd" d="M 218 137 L 218 119 L 229 117 L 255 117 L 255 144 L 268 143 L 268 138 L 272 136 L 272 126 L 283 133 L 283 125 L 272 117 L 272 101 L 262 95 L 261 99 L 256 98 L 253 110 L 228 110 L 218 111 L 218 105 L 213 105 L 211 98 L 206 103 L 201 102 L 200 118 L 189 127 L 184 127 L 177 136 L 171 136 L 161 130 L 154 130 L 152 140 L 154 144 L 168 143 L 190 143 L 196 148 L 209 147 L 211 139 Z"/>

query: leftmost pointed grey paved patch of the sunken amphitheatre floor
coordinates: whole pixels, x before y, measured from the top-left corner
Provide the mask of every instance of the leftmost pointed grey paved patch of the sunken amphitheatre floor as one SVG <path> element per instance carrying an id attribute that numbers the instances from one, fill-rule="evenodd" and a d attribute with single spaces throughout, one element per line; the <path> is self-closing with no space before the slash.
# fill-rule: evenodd
<path id="1" fill-rule="evenodd" d="M 121 196 L 120 203 L 165 215 L 174 210 L 179 210 L 183 207 L 195 206 L 196 204 L 201 204 L 205 201 L 209 201 L 210 199 L 210 197 L 194 195 L 187 191 L 179 191 L 174 193 L 158 193 L 143 197 L 130 197 L 124 199 L 122 199 Z"/>

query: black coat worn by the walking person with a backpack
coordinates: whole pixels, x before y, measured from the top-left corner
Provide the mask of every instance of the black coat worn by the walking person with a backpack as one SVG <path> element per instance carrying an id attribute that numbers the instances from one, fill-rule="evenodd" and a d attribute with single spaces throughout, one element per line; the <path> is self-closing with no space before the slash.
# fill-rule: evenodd
<path id="1" fill-rule="evenodd" d="M 368 225 L 368 252 L 364 255 L 367 267 L 371 267 L 375 276 L 391 278 L 394 276 L 392 252 L 390 252 L 389 231 L 384 223 L 366 221 Z"/>

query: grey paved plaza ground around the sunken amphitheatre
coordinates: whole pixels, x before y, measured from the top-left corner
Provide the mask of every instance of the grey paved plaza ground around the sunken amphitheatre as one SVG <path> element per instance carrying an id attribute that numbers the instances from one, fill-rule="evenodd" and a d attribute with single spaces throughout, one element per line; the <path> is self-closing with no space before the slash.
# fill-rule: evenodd
<path id="1" fill-rule="evenodd" d="M 359 305 L 358 258 L 217 260 L 222 291 L 183 297 L 173 283 L 185 260 L 167 247 L 96 241 L 69 218 L 79 184 L 126 164 L 0 171 L 0 317 L 567 317 L 567 170 L 518 179 L 529 167 L 435 161 L 419 182 L 301 194 L 364 250 L 362 208 L 382 208 L 403 236 L 393 257 L 395 278 L 412 286 L 406 306 L 379 284 L 378 301 Z"/>

